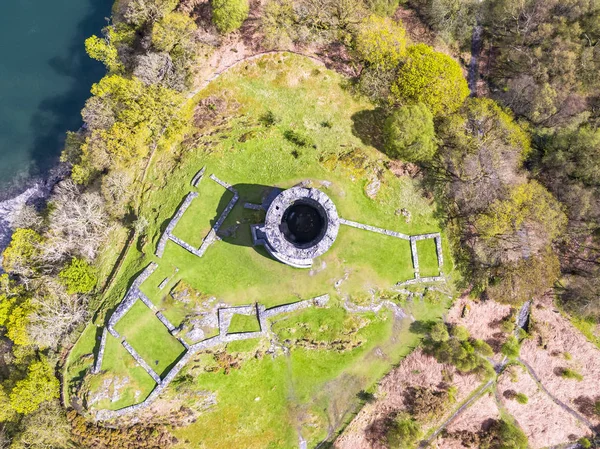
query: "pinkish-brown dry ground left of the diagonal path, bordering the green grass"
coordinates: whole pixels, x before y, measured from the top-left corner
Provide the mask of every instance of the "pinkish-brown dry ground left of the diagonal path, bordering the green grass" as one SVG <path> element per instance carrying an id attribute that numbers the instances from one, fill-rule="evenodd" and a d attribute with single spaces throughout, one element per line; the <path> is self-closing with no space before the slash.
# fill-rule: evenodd
<path id="1" fill-rule="evenodd" d="M 462 402 L 480 384 L 475 375 L 459 375 L 454 367 L 442 365 L 418 349 L 404 359 L 400 366 L 392 370 L 381 381 L 376 401 L 365 405 L 342 435 L 334 447 L 338 449 L 384 449 L 378 443 L 370 441 L 370 434 L 379 431 L 382 423 L 399 411 L 405 410 L 404 395 L 409 387 L 437 388 L 443 382 L 442 370 L 453 373 L 452 385 L 458 389 L 457 403 Z M 450 412 L 450 410 L 449 410 Z M 425 431 L 443 420 L 439 416 L 436 422 L 422 423 Z"/>

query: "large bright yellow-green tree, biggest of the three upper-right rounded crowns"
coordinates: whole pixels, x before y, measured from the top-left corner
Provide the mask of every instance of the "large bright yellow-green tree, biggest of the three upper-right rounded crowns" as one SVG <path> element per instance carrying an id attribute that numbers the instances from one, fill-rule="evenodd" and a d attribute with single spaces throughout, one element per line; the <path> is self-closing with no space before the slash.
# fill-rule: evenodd
<path id="1" fill-rule="evenodd" d="M 456 111 L 469 96 L 460 65 L 428 45 L 408 47 L 392 94 L 401 104 L 425 104 L 433 115 Z"/>

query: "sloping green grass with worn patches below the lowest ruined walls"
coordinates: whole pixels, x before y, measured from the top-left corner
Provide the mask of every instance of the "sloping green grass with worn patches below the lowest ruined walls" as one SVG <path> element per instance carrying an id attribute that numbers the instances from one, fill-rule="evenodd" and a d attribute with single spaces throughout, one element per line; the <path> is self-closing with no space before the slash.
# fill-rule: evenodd
<path id="1" fill-rule="evenodd" d="M 439 319 L 446 306 L 414 304 L 408 311 L 427 321 Z M 252 358 L 227 375 L 194 374 L 197 389 L 217 392 L 217 404 L 196 423 L 174 430 L 181 441 L 178 447 L 294 448 L 298 427 L 308 447 L 315 447 L 327 436 L 329 425 L 339 428 L 351 418 L 360 404 L 358 393 L 372 388 L 421 338 L 410 332 L 408 318 L 394 321 L 389 312 L 350 315 L 336 305 L 290 314 L 277 320 L 274 330 L 288 337 L 294 335 L 290 330 L 308 327 L 300 338 L 314 336 L 316 330 L 319 338 L 332 341 L 344 332 L 348 317 L 368 322 L 357 331 L 362 344 L 352 350 L 292 346 L 289 356 Z M 231 428 L 236 432 L 227 431 Z"/>

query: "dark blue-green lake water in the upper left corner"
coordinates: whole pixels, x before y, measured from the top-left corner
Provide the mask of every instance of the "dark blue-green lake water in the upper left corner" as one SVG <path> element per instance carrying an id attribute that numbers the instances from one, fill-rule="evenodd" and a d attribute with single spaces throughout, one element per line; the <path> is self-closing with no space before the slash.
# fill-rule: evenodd
<path id="1" fill-rule="evenodd" d="M 0 6 L 0 201 L 45 175 L 65 132 L 81 126 L 91 85 L 104 74 L 84 40 L 113 0 L 17 0 Z"/>

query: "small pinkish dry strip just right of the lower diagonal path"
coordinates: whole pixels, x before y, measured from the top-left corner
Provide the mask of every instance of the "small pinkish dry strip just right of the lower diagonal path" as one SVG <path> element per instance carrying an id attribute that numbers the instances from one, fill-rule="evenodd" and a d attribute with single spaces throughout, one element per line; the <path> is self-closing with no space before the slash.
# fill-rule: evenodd
<path id="1" fill-rule="evenodd" d="M 500 411 L 496 404 L 496 399 L 492 393 L 485 393 L 481 398 L 474 402 L 467 410 L 458 415 L 446 428 L 448 432 L 459 430 L 468 430 L 469 432 L 478 432 L 482 430 L 489 420 L 500 418 Z M 440 436 L 431 447 L 433 449 L 463 449 L 462 442 L 457 438 L 450 436 Z"/>

